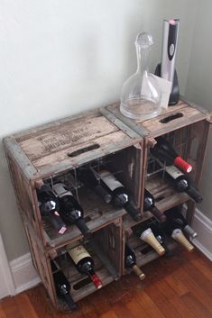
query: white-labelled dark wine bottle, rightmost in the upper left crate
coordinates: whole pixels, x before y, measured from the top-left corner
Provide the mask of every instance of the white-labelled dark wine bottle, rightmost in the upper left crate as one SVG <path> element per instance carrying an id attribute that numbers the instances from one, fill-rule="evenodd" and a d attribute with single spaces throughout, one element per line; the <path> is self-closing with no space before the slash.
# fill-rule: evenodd
<path id="1" fill-rule="evenodd" d="M 139 221 L 141 214 L 135 209 L 133 201 L 130 199 L 127 190 L 121 182 L 108 170 L 101 170 L 99 176 L 101 177 L 102 185 L 105 186 L 106 190 L 112 195 L 113 204 L 124 207 L 134 221 Z"/>

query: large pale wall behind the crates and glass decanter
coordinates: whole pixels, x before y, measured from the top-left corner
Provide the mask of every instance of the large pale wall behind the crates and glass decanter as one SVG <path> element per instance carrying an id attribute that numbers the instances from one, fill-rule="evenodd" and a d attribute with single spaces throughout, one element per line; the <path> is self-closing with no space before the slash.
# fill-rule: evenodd
<path id="1" fill-rule="evenodd" d="M 197 0 L 0 0 L 0 138 L 119 99 L 134 72 L 134 38 L 151 32 L 153 70 L 162 20 L 180 18 L 183 94 Z M 9 259 L 28 251 L 3 150 L 0 231 Z"/>

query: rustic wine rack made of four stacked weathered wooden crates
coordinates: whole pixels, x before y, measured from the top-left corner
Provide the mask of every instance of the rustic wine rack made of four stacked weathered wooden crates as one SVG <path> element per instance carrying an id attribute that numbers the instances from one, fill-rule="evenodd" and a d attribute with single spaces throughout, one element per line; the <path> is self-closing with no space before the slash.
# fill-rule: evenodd
<path id="1" fill-rule="evenodd" d="M 182 100 L 143 122 L 124 117 L 119 103 L 115 103 L 5 138 L 5 153 L 33 264 L 58 310 L 68 308 L 56 295 L 51 259 L 57 260 L 68 277 L 74 301 L 96 291 L 88 277 L 78 274 L 70 262 L 66 245 L 79 241 L 86 246 L 103 287 L 130 272 L 124 268 L 125 242 L 134 250 L 138 266 L 159 257 L 132 232 L 136 224 L 152 218 L 151 212 L 143 212 L 145 187 L 155 197 L 161 212 L 186 203 L 191 221 L 195 204 L 189 195 L 176 192 L 167 182 L 166 163 L 154 159 L 150 148 L 158 136 L 171 141 L 181 157 L 193 166 L 189 176 L 198 186 L 210 123 L 210 114 Z M 142 219 L 134 221 L 124 208 L 106 204 L 84 186 L 78 180 L 81 167 L 92 168 L 97 174 L 101 168 L 108 168 L 127 189 Z M 39 180 L 50 186 L 62 182 L 71 189 L 84 209 L 85 222 L 93 234 L 91 240 L 85 239 L 75 225 L 68 226 L 61 235 L 47 218 L 41 217 L 35 188 Z M 176 243 L 170 240 L 169 246 L 173 249 Z"/>

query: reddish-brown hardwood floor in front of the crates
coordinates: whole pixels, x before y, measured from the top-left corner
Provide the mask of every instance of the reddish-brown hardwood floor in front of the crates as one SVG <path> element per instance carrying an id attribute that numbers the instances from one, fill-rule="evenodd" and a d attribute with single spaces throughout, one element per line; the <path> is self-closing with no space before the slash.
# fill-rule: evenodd
<path id="1" fill-rule="evenodd" d="M 0 302 L 0 318 L 212 317 L 212 263 L 200 252 L 178 250 L 143 271 L 143 282 L 127 275 L 79 301 L 75 313 L 57 313 L 43 286 L 37 286 Z"/>

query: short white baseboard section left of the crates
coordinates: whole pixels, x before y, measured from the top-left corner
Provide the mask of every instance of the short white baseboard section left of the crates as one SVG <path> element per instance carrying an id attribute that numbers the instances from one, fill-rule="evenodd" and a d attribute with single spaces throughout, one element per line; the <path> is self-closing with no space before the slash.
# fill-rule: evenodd
<path id="1" fill-rule="evenodd" d="M 41 282 L 41 278 L 33 267 L 31 253 L 12 260 L 10 268 L 14 277 L 14 295 L 32 288 Z"/>

